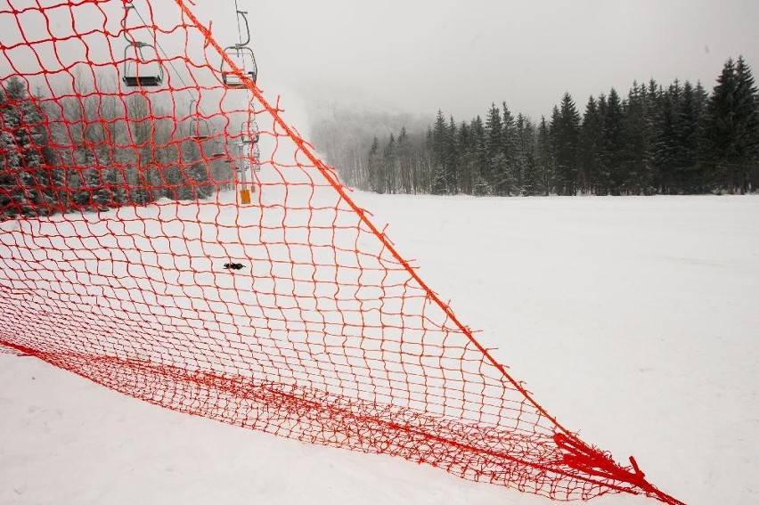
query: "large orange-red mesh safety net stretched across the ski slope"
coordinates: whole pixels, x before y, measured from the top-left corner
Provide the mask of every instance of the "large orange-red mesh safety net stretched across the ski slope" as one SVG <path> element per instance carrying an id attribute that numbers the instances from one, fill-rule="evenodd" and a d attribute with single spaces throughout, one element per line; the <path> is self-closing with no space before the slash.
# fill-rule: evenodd
<path id="1" fill-rule="evenodd" d="M 0 346 L 278 436 L 680 503 L 560 426 L 399 256 L 265 99 L 245 13 L 227 40 L 191 8 L 2 6 Z"/>

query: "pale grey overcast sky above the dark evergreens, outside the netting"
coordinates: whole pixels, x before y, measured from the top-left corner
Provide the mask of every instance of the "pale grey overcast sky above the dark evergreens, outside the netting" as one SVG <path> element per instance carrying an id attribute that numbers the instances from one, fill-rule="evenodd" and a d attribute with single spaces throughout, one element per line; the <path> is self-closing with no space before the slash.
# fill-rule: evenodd
<path id="1" fill-rule="evenodd" d="M 161 0 L 166 1 L 166 0 Z M 233 0 L 195 0 L 214 33 Z M 759 71 L 759 0 L 238 0 L 249 12 L 261 85 L 365 97 L 458 119 L 507 101 L 532 118 L 569 91 L 626 92 L 633 79 L 701 80 L 743 54 Z M 309 96 L 309 98 L 311 98 Z"/>

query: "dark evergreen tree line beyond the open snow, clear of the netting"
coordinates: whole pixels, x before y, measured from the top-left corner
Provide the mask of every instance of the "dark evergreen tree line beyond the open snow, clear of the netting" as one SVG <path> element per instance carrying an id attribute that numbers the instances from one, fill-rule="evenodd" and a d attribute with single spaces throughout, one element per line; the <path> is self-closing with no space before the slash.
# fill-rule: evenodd
<path id="1" fill-rule="evenodd" d="M 505 102 L 461 123 L 440 110 L 426 132 L 401 127 L 363 150 L 356 159 L 352 148 L 339 173 L 380 193 L 746 193 L 759 185 L 759 94 L 740 57 L 725 62 L 711 93 L 651 79 L 625 96 L 591 96 L 582 114 L 566 93 L 537 123 Z"/>

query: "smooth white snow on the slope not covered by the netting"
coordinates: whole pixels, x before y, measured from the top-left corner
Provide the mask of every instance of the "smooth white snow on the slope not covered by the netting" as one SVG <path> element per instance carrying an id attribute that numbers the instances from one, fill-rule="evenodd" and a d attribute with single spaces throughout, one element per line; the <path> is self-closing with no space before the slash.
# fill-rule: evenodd
<path id="1" fill-rule="evenodd" d="M 687 503 L 759 501 L 759 198 L 353 196 L 564 426 Z M 3 504 L 551 502 L 163 410 L 31 358 L 0 354 L 0 412 Z"/>

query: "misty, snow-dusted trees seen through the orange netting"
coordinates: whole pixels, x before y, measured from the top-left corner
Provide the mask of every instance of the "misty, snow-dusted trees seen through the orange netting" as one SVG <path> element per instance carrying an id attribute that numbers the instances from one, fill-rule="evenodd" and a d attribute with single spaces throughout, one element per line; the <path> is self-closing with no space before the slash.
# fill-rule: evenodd
<path id="1" fill-rule="evenodd" d="M 0 81 L 0 220 L 200 200 L 232 182 L 209 122 L 196 138 L 172 97 L 118 94 L 108 79 L 76 74 L 53 97 Z"/>

